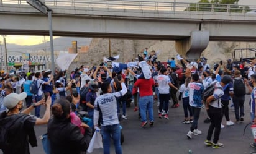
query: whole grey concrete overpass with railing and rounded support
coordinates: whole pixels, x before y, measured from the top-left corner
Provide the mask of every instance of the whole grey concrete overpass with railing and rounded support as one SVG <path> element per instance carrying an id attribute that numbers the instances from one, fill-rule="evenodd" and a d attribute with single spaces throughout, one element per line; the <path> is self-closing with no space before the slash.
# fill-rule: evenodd
<path id="1" fill-rule="evenodd" d="M 25 0 L 13 1 L 16 0 L 0 0 L 1 34 L 48 35 L 47 15 Z M 256 14 L 246 14 L 245 6 L 239 6 L 240 13 L 235 13 L 229 5 L 226 12 L 216 12 L 213 5 L 208 6 L 211 11 L 199 11 L 199 6 L 195 11 L 184 11 L 190 4 L 126 2 L 130 3 L 45 0 L 53 10 L 54 36 L 175 40 L 180 54 L 193 56 L 194 51 L 201 53 L 208 41 L 256 40 Z"/>

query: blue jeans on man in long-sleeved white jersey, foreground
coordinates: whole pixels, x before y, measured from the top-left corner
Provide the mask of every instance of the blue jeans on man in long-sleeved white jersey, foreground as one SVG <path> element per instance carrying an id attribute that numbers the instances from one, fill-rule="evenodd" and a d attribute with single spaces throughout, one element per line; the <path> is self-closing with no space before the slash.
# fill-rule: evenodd
<path id="1" fill-rule="evenodd" d="M 103 152 L 104 154 L 110 153 L 111 137 L 114 142 L 116 154 L 122 154 L 121 147 L 121 128 L 119 124 L 101 126 L 101 134 L 103 135 Z"/>

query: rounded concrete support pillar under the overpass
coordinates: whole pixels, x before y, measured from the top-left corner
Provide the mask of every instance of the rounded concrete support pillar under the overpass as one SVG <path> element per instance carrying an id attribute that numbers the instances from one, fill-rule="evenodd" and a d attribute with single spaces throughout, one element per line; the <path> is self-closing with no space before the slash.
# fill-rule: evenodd
<path id="1" fill-rule="evenodd" d="M 193 31 L 190 38 L 175 41 L 175 49 L 178 54 L 187 59 L 197 60 L 209 43 L 209 31 Z"/>

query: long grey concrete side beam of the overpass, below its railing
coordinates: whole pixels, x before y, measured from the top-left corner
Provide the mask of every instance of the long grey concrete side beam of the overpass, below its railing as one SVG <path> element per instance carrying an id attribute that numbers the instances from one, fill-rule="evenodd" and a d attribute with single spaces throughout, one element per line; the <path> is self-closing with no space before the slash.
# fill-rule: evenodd
<path id="1" fill-rule="evenodd" d="M 0 12 L 0 34 L 48 35 L 48 18 L 42 14 L 4 14 Z M 53 14 L 54 36 L 79 36 L 143 40 L 182 40 L 192 31 L 209 31 L 209 41 L 255 41 L 252 22 L 220 22 L 171 19 L 130 19 L 126 17 L 76 16 Z"/>

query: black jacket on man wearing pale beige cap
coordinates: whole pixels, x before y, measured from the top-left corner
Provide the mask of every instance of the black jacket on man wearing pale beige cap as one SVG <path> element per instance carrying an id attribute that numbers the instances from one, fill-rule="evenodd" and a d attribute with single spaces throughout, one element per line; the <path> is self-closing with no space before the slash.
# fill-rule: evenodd
<path id="1" fill-rule="evenodd" d="M 37 146 L 34 131 L 35 118 L 26 114 L 13 114 L 7 116 L 6 112 L 0 114 L 1 140 L 6 140 L 2 151 L 4 154 L 29 154 L 29 143 L 32 147 Z M 6 129 L 4 129 L 4 127 Z M 6 134 L 6 137 L 2 138 Z"/>

